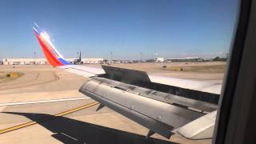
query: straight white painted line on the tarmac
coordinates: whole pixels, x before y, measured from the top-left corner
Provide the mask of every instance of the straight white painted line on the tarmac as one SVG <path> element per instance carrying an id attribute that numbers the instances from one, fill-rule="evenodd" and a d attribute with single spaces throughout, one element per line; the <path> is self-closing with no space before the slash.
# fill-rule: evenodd
<path id="1" fill-rule="evenodd" d="M 34 104 L 34 103 L 46 103 L 46 102 L 64 102 L 64 101 L 75 101 L 82 99 L 90 99 L 89 97 L 85 98 L 62 98 L 62 99 L 52 99 L 45 101 L 31 101 L 31 102 L 10 102 L 10 103 L 2 103 L 0 106 L 14 106 L 14 105 L 26 105 L 26 104 Z"/>

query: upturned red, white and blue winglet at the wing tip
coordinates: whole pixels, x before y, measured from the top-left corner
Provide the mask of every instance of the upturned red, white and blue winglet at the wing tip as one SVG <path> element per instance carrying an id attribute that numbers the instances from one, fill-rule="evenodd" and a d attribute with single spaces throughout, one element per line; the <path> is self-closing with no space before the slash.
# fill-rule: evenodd
<path id="1" fill-rule="evenodd" d="M 36 38 L 38 38 L 39 45 L 42 48 L 42 52 L 45 54 L 47 61 L 51 66 L 66 66 L 70 65 L 70 62 L 66 61 L 62 54 L 58 52 L 58 50 L 54 47 L 51 42 L 49 34 L 46 31 L 39 28 L 39 26 L 35 23 L 34 34 Z"/>

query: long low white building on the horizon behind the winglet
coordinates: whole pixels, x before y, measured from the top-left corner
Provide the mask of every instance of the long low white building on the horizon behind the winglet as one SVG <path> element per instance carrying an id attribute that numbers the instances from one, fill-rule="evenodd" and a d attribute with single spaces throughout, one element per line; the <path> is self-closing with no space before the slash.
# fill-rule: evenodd
<path id="1" fill-rule="evenodd" d="M 67 61 L 74 62 L 75 58 L 66 58 Z M 82 58 L 85 64 L 100 64 L 103 58 Z M 3 58 L 3 65 L 46 65 L 49 64 L 46 58 Z"/>

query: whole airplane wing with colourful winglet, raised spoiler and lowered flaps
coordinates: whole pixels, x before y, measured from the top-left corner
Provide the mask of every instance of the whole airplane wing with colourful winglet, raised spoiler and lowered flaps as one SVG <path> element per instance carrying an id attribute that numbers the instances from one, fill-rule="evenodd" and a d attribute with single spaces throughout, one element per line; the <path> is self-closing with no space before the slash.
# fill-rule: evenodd
<path id="1" fill-rule="evenodd" d="M 46 31 L 34 27 L 51 66 L 89 78 L 80 88 L 107 106 L 166 138 L 174 133 L 190 139 L 212 138 L 221 84 L 149 75 L 112 66 L 71 64 L 54 47 Z"/>

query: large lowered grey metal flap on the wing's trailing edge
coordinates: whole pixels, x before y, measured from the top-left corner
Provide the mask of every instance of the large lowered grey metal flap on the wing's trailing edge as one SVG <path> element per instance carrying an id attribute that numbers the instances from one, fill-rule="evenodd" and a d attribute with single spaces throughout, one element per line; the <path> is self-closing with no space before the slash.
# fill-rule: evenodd
<path id="1" fill-rule="evenodd" d="M 204 115 L 143 97 L 139 93 L 118 87 L 115 83 L 118 82 L 106 78 L 90 78 L 79 91 L 166 138 L 170 138 L 171 130 Z"/>

